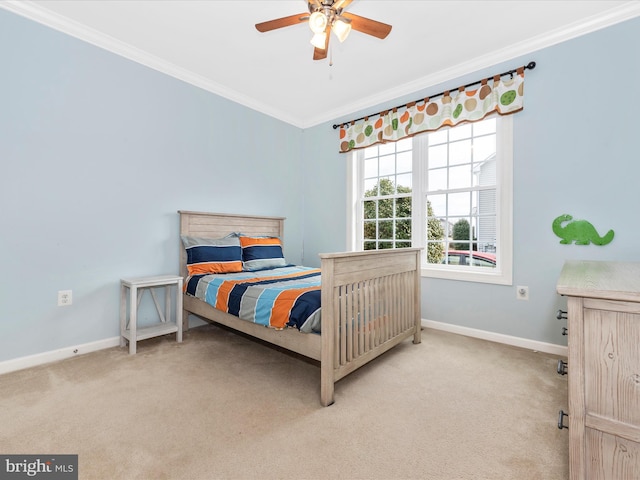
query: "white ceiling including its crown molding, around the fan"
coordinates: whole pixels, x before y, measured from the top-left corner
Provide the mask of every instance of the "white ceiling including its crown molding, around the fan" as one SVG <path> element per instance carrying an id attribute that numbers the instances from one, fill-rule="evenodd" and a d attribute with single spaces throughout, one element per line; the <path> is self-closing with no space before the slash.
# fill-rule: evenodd
<path id="1" fill-rule="evenodd" d="M 332 37 L 331 65 L 312 60 L 304 23 L 267 33 L 254 27 L 307 12 L 305 0 L 5 0 L 0 7 L 300 128 L 349 120 L 640 16 L 637 0 L 354 0 L 349 12 L 393 29 L 384 40 L 356 31 L 342 44 Z"/>

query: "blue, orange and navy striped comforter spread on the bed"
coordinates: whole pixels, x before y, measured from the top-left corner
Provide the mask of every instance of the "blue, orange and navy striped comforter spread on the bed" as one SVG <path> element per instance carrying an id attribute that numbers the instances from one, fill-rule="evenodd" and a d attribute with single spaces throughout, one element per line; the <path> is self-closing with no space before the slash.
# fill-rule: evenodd
<path id="1" fill-rule="evenodd" d="M 267 327 L 320 332 L 320 269 L 287 266 L 257 272 L 193 275 L 185 291 L 231 315 Z"/>

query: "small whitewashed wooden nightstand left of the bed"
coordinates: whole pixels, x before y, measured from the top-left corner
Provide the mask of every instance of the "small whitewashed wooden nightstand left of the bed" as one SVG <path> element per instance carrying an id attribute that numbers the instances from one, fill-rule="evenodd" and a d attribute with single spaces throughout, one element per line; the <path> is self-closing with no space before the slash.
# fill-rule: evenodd
<path id="1" fill-rule="evenodd" d="M 176 308 L 171 320 L 171 291 L 175 287 Z M 164 312 L 158 303 L 155 289 L 164 288 Z M 129 290 L 127 295 L 127 289 Z M 149 327 L 138 328 L 138 306 L 145 290 L 151 292 L 151 298 L 158 311 L 160 322 Z M 128 298 L 128 301 L 127 301 Z M 128 315 L 127 315 L 128 313 Z M 128 318 L 127 318 L 128 317 Z M 120 346 L 129 342 L 129 354 L 136 353 L 136 342 L 147 338 L 176 333 L 176 341 L 182 342 L 182 277 L 177 275 L 159 275 L 156 277 L 123 278 L 120 281 Z"/>

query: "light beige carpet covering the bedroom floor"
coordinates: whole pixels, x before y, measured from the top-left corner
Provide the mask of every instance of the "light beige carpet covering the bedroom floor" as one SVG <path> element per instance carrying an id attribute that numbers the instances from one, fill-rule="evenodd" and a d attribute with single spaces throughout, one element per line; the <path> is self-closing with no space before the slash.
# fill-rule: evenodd
<path id="1" fill-rule="evenodd" d="M 568 477 L 557 358 L 424 330 L 319 403 L 319 368 L 206 325 L 0 376 L 0 453 L 81 479 Z"/>

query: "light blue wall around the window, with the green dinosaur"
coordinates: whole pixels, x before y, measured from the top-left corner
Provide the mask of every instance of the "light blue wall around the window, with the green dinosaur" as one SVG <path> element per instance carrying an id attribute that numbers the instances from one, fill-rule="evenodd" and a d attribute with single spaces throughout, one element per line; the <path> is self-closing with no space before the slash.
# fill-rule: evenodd
<path id="1" fill-rule="evenodd" d="M 525 110 L 514 115 L 514 286 L 422 281 L 429 320 L 566 344 L 555 319 L 566 302 L 555 293 L 566 259 L 640 261 L 640 18 L 546 48 L 337 121 L 348 121 L 537 62 L 527 71 Z M 333 123 L 333 122 L 332 122 Z M 305 256 L 345 247 L 345 159 L 327 123 L 305 131 Z M 563 213 L 591 221 L 604 247 L 560 245 L 552 220 Z M 527 285 L 530 300 L 516 300 Z"/>

